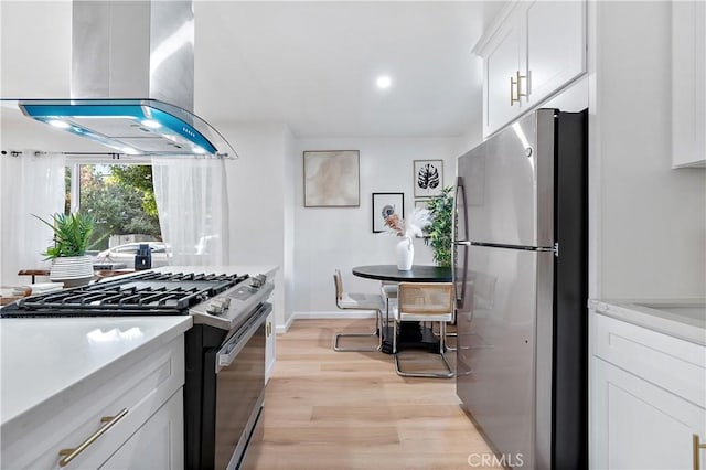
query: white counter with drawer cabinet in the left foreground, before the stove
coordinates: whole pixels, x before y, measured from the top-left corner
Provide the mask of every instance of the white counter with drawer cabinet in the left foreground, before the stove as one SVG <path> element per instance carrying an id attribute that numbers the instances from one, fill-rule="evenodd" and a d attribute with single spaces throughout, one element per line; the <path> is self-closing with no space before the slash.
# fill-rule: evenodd
<path id="1" fill-rule="evenodd" d="M 162 428 L 169 440 L 152 441 L 152 450 L 164 451 L 160 461 L 182 462 L 183 335 L 191 327 L 190 316 L 0 320 L 2 468 L 55 468 L 71 453 L 64 449 L 101 428 L 111 429 L 76 464 L 120 466 L 119 450 L 135 453 L 139 444 L 131 436 Z"/>

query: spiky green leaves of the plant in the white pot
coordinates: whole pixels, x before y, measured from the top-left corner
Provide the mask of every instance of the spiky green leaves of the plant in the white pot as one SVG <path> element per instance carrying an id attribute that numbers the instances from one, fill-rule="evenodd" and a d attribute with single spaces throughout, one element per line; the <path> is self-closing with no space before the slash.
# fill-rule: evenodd
<path id="1" fill-rule="evenodd" d="M 32 214 L 34 215 L 34 214 Z M 54 232 L 54 246 L 46 248 L 43 255 L 46 259 L 63 258 L 68 256 L 84 256 L 88 248 L 88 239 L 95 226 L 95 220 L 90 214 L 56 213 L 52 215 L 53 223 L 50 223 L 36 215 Z"/>

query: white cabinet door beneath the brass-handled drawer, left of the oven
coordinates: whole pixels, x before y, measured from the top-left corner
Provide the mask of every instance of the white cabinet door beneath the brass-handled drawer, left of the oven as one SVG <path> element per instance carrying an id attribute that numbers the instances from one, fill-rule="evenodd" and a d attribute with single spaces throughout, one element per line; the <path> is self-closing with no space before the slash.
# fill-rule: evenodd
<path id="1" fill-rule="evenodd" d="M 183 469 L 183 388 L 154 413 L 101 469 Z"/>

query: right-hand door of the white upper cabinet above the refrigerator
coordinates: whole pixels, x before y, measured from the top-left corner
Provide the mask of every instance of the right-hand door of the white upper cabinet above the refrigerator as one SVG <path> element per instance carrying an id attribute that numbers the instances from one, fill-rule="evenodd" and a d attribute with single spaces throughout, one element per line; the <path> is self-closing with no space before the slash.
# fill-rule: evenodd
<path id="1" fill-rule="evenodd" d="M 534 106 L 586 72 L 586 2 L 536 1 L 525 19 L 521 85 Z"/>

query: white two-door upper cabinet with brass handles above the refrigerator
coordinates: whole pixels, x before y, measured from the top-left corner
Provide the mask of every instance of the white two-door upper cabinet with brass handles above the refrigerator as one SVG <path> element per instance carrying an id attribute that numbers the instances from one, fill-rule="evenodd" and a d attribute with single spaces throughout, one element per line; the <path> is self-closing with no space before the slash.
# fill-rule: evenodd
<path id="1" fill-rule="evenodd" d="M 511 2 L 473 52 L 483 58 L 488 137 L 586 72 L 586 2 Z"/>

